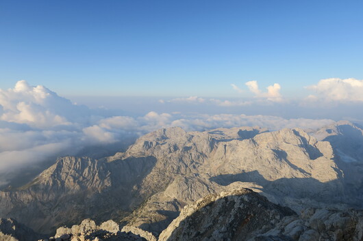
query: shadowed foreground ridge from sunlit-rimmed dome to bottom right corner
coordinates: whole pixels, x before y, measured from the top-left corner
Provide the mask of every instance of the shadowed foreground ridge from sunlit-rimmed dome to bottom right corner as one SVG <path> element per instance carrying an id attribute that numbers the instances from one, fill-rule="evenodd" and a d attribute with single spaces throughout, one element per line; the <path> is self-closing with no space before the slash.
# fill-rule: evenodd
<path id="1" fill-rule="evenodd" d="M 308 208 L 296 214 L 248 189 L 186 205 L 160 241 L 363 240 L 363 211 Z"/>

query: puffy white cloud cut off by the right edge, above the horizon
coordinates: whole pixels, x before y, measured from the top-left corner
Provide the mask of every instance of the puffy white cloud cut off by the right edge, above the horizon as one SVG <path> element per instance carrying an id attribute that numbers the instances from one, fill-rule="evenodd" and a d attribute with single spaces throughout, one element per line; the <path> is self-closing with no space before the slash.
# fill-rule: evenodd
<path id="1" fill-rule="evenodd" d="M 362 102 L 363 80 L 358 79 L 322 79 L 316 85 L 306 87 L 314 92 L 316 96 L 308 96 L 308 100 L 318 98 L 327 101 Z"/>

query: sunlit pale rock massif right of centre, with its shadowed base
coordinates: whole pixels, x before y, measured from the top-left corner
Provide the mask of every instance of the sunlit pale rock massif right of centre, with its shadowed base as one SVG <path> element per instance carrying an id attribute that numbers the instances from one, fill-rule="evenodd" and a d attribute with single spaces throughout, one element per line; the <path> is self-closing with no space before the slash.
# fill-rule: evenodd
<path id="1" fill-rule="evenodd" d="M 201 169 L 222 186 L 240 182 L 257 191 L 253 185 L 258 184 L 283 205 L 301 198 L 349 201 L 342 200 L 344 188 L 331 145 L 303 130 L 284 129 L 219 143 Z"/>

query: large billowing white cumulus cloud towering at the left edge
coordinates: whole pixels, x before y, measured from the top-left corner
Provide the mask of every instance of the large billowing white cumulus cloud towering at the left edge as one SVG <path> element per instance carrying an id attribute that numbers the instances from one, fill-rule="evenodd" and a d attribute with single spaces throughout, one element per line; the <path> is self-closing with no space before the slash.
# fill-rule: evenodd
<path id="1" fill-rule="evenodd" d="M 18 81 L 14 89 L 0 89 L 0 120 L 36 128 L 70 125 L 84 119 L 89 110 L 72 104 L 46 87 Z"/>

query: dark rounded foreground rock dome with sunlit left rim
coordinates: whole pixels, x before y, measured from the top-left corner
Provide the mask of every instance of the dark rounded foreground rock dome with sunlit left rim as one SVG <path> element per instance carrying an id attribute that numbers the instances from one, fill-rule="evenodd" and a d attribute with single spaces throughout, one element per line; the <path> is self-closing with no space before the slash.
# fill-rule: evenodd
<path id="1" fill-rule="evenodd" d="M 159 240 L 247 240 L 256 230 L 272 229 L 291 215 L 295 215 L 292 210 L 249 189 L 235 189 L 186 205 Z"/>

